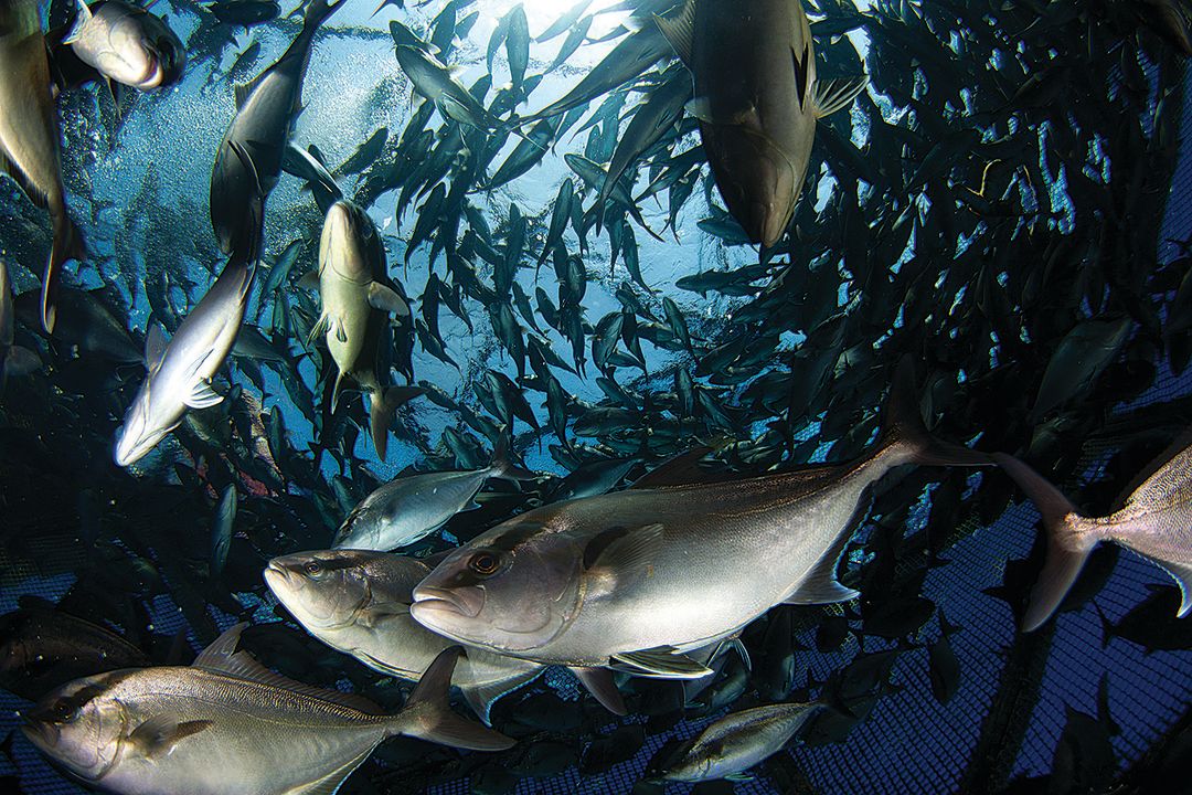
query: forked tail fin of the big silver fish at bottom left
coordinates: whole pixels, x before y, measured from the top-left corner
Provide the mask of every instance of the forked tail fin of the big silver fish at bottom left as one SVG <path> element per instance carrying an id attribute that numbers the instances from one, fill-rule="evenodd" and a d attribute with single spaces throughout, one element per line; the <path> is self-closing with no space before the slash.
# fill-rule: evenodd
<path id="1" fill-rule="evenodd" d="M 514 740 L 501 732 L 485 728 L 451 710 L 447 703 L 451 676 L 462 653 L 462 646 L 452 646 L 439 653 L 395 719 L 393 733 L 473 751 L 504 751 L 513 747 Z"/>

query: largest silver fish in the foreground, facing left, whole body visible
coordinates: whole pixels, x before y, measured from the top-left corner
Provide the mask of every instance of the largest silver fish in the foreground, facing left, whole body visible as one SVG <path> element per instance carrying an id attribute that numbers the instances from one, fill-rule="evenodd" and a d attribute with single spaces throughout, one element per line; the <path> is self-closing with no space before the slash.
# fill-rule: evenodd
<path id="1" fill-rule="evenodd" d="M 631 489 L 527 511 L 454 551 L 411 614 L 468 645 L 542 663 L 695 678 L 683 652 L 771 607 L 840 602 L 837 561 L 870 486 L 905 464 L 982 465 L 932 439 L 900 367 L 869 454 L 728 483 Z"/>

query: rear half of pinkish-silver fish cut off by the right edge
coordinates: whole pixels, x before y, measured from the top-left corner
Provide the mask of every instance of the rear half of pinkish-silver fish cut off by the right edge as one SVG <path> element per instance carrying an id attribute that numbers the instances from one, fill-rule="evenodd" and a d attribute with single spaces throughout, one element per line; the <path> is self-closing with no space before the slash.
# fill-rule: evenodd
<path id="1" fill-rule="evenodd" d="M 1185 434 L 1148 467 L 1149 477 L 1109 516 L 1082 516 L 1060 490 L 1018 459 L 994 453 L 1043 516 L 1047 560 L 1031 590 L 1023 631 L 1055 613 L 1088 555 L 1112 541 L 1151 561 L 1180 586 L 1178 616 L 1192 610 L 1192 435 Z"/>

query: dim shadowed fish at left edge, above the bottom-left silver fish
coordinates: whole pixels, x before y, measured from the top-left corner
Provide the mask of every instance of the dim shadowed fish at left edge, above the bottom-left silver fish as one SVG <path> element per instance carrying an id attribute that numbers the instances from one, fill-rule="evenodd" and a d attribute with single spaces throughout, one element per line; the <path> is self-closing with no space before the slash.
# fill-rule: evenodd
<path id="1" fill-rule="evenodd" d="M 0 688 L 37 700 L 83 676 L 149 664 L 143 651 L 110 629 L 50 605 L 0 616 Z"/>

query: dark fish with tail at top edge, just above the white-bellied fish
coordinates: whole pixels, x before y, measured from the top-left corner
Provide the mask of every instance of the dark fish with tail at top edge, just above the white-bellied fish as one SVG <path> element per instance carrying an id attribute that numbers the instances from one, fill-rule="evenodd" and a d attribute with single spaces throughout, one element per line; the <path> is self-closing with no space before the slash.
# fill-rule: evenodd
<path id="1" fill-rule="evenodd" d="M 265 200 L 302 112 L 302 83 L 315 33 L 343 0 L 311 0 L 302 31 L 277 63 L 236 87 L 236 116 L 211 169 L 211 228 L 224 254 L 259 259 Z"/>

